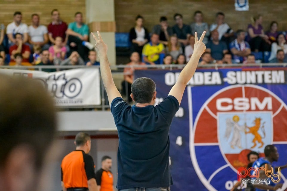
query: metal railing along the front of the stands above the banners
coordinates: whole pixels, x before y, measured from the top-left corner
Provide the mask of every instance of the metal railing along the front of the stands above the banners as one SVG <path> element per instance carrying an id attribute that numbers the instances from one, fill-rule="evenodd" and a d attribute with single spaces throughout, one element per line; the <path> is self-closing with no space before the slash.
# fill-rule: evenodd
<path id="1" fill-rule="evenodd" d="M 113 65 L 110 66 L 111 70 L 112 70 L 112 74 L 118 74 L 118 75 L 126 75 L 126 74 L 130 74 L 130 73 L 124 73 L 123 69 L 128 67 L 146 67 L 146 69 L 165 69 L 165 70 L 181 70 L 182 68 L 184 68 L 186 64 L 182 64 L 182 65 L 178 65 L 178 64 L 170 64 L 170 65 Z M 259 64 L 206 64 L 206 65 L 199 65 L 198 68 L 211 68 L 211 69 L 219 69 L 219 68 L 239 68 L 239 67 L 258 67 L 258 68 L 262 68 L 262 67 L 286 67 L 287 63 L 259 63 Z M 92 68 L 100 68 L 100 66 L 90 66 Z M 67 69 L 76 69 L 76 68 L 89 68 L 87 66 L 83 66 L 83 65 L 74 65 L 74 66 L 55 66 L 55 65 L 49 65 L 49 66 L 45 66 L 45 65 L 41 65 L 41 66 L 0 66 L 0 68 L 6 68 L 6 69 L 17 69 L 17 70 L 39 70 L 42 71 L 42 69 L 56 69 L 56 70 L 67 70 Z M 120 82 L 123 81 L 124 78 L 122 78 L 122 80 Z M 116 84 L 118 81 L 115 81 Z M 121 83 L 120 83 L 121 84 Z M 123 98 L 125 99 L 125 101 L 128 102 L 128 84 L 126 82 L 125 84 L 126 86 L 126 92 L 125 92 L 125 96 L 123 96 L 124 94 L 121 93 L 121 89 L 119 87 L 117 87 L 120 91 L 120 93 L 122 94 Z M 72 107 L 61 107 L 61 109 L 65 110 L 65 109 L 88 109 L 88 108 L 98 108 L 101 110 L 105 110 L 107 108 L 109 108 L 108 105 L 108 101 L 107 101 L 107 96 L 106 96 L 106 91 L 103 85 L 103 81 L 102 79 L 100 79 L 100 90 L 101 90 L 101 105 L 98 106 L 72 106 Z"/>

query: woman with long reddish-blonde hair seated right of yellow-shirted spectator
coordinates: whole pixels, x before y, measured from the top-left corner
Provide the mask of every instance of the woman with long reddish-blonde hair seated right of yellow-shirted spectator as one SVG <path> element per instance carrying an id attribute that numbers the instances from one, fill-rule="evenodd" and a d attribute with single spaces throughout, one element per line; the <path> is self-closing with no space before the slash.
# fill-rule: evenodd
<path id="1" fill-rule="evenodd" d="M 168 41 L 166 47 L 166 53 L 172 56 L 174 63 L 176 62 L 178 55 L 183 53 L 182 47 L 180 46 L 180 43 L 176 35 L 170 36 L 170 40 Z"/>

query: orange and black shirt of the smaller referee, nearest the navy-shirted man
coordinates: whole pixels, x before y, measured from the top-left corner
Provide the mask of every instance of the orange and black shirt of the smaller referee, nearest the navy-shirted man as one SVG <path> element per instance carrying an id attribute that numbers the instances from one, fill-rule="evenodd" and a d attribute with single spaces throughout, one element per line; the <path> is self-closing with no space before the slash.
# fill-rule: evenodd
<path id="1" fill-rule="evenodd" d="M 97 185 L 101 186 L 100 191 L 113 191 L 113 174 L 111 171 L 102 168 L 96 172 Z"/>

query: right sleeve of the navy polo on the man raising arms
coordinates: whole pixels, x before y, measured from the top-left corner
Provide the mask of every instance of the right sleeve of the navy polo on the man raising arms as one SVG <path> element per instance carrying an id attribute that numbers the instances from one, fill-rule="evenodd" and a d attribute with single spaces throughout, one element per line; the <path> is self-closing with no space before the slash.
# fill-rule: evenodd
<path id="1" fill-rule="evenodd" d="M 157 106 L 160 113 L 164 116 L 168 123 L 171 123 L 175 113 L 179 109 L 178 100 L 174 96 L 167 96 L 164 101 L 159 103 Z"/>

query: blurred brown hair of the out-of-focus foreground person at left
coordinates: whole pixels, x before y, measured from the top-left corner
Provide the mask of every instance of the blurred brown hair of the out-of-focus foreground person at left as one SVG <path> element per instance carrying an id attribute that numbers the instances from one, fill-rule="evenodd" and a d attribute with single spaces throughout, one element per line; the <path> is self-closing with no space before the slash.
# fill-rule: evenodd
<path id="1" fill-rule="evenodd" d="M 39 169 L 56 132 L 53 100 L 39 81 L 2 74 L 0 81 L 0 168 L 14 148 L 27 145 Z"/>

